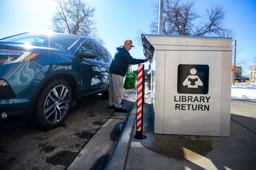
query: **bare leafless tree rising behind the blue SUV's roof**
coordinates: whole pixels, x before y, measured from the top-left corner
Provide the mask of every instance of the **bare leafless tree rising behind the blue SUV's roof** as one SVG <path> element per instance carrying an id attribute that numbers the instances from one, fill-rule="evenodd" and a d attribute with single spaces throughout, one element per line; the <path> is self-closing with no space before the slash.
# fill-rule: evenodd
<path id="1" fill-rule="evenodd" d="M 67 33 L 91 37 L 101 44 L 98 29 L 94 20 L 95 7 L 83 0 L 54 0 L 58 3 L 57 11 L 51 22 L 50 29 L 57 33 Z"/>

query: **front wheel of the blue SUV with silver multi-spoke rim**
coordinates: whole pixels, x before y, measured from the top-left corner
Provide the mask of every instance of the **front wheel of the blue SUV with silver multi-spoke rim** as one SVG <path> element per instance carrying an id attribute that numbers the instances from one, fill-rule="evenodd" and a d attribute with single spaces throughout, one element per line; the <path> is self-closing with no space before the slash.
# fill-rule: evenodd
<path id="1" fill-rule="evenodd" d="M 53 129 L 66 118 L 72 103 L 72 90 L 65 80 L 57 79 L 43 87 L 31 116 L 32 124 Z"/>

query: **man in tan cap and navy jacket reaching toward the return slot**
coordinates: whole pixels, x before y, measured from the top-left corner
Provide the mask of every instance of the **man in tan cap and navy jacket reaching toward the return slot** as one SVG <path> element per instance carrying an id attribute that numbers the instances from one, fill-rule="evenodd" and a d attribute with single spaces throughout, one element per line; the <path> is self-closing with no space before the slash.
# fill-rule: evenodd
<path id="1" fill-rule="evenodd" d="M 122 83 L 123 77 L 126 75 L 130 64 L 141 64 L 149 59 L 135 59 L 129 51 L 134 47 L 133 42 L 129 39 L 125 40 L 122 46 L 117 47 L 114 58 L 109 68 L 110 83 L 109 83 L 109 108 L 115 109 L 115 112 L 126 112 L 127 110 L 121 107 L 122 101 Z"/>

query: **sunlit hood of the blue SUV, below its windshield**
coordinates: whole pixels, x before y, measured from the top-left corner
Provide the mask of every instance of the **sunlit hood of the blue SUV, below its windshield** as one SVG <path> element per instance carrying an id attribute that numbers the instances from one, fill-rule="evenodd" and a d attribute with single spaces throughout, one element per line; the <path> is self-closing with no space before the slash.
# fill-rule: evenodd
<path id="1" fill-rule="evenodd" d="M 0 49 L 3 50 L 21 50 L 21 51 L 44 51 L 44 50 L 58 50 L 61 51 L 62 48 L 57 47 L 48 47 L 48 46 L 40 46 L 34 44 L 25 44 L 25 43 L 17 43 L 17 42 L 6 42 L 0 41 Z"/>

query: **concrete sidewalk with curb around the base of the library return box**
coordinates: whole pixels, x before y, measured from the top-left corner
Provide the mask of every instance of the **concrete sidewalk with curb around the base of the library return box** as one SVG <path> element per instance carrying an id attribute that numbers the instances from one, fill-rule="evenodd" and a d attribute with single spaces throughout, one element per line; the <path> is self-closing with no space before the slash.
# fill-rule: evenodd
<path id="1" fill-rule="evenodd" d="M 145 102 L 147 138 L 134 138 L 135 102 L 105 169 L 256 169 L 255 100 L 231 100 L 230 137 L 154 134 Z"/>

